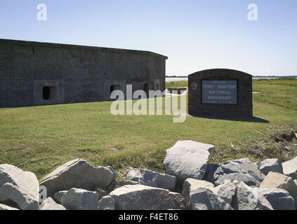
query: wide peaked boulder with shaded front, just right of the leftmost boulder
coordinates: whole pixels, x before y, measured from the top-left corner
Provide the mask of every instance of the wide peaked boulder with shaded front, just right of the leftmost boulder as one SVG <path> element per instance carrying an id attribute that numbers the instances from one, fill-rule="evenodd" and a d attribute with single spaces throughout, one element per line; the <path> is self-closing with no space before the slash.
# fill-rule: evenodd
<path id="1" fill-rule="evenodd" d="M 83 188 L 95 190 L 107 188 L 116 178 L 117 174 L 112 167 L 94 167 L 86 160 L 72 160 L 66 162 L 41 180 L 41 186 L 47 188 L 48 197 L 54 193 L 70 188 Z"/>

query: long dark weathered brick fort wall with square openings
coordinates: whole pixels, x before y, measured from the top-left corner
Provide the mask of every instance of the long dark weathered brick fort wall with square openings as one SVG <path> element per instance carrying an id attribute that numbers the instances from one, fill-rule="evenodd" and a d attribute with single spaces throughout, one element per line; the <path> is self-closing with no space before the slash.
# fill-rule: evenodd
<path id="1" fill-rule="evenodd" d="M 110 99 L 111 85 L 125 92 L 128 84 L 148 83 L 164 91 L 166 59 L 140 50 L 0 39 L 0 107 L 100 102 Z M 63 94 L 40 100 L 42 80 L 59 83 Z"/>

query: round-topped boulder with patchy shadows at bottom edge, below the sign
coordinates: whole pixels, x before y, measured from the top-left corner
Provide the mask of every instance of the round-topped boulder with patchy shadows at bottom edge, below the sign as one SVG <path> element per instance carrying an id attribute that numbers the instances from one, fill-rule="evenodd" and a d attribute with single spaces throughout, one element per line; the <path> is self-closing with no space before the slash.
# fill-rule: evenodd
<path id="1" fill-rule="evenodd" d="M 230 204 L 207 188 L 198 188 L 190 193 L 193 210 L 233 210 Z"/>

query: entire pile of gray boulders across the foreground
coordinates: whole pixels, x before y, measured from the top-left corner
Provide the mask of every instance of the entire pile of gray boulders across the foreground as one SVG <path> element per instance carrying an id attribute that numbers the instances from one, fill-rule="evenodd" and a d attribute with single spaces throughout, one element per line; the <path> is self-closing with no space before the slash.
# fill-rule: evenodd
<path id="1" fill-rule="evenodd" d="M 94 167 L 81 159 L 58 167 L 40 183 L 32 172 L 0 165 L 0 210 L 296 209 L 297 158 L 211 165 L 213 149 L 178 141 L 166 151 L 166 174 L 129 168 L 127 180 L 114 190 L 109 190 L 117 176 L 112 167 Z M 41 188 L 46 189 L 44 198 Z"/>

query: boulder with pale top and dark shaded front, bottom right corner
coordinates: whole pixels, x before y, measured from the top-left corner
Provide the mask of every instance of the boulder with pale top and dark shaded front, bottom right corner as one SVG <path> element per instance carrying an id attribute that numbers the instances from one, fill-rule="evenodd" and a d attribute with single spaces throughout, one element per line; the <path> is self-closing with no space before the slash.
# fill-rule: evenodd
<path id="1" fill-rule="evenodd" d="M 259 195 L 263 195 L 275 210 L 295 210 L 295 200 L 283 189 L 256 188 Z"/>

